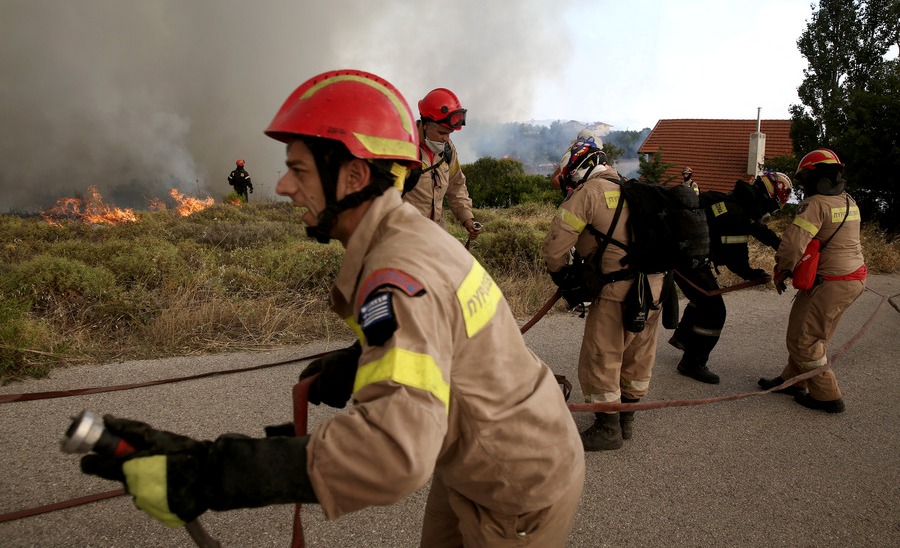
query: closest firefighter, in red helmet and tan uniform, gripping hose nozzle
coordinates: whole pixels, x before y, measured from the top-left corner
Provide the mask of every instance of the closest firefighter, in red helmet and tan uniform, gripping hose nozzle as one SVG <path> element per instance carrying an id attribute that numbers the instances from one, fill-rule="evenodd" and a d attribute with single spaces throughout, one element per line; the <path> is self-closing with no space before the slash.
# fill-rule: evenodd
<path id="1" fill-rule="evenodd" d="M 287 143 L 278 194 L 304 208 L 311 237 L 346 250 L 332 307 L 359 344 L 323 358 L 310 399 L 352 406 L 309 436 L 262 439 L 195 441 L 111 417 L 137 452 L 82 468 L 124 480 L 171 525 L 291 502 L 334 519 L 431 478 L 422 546 L 565 546 L 584 481 L 578 431 L 488 273 L 403 203 L 419 163 L 403 97 L 373 74 L 323 73 L 266 134 Z"/>

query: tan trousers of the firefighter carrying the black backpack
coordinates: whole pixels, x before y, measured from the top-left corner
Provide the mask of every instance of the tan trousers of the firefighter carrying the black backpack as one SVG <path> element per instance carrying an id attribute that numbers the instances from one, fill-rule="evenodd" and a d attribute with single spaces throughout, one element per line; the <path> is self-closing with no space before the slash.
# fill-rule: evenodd
<path id="1" fill-rule="evenodd" d="M 631 333 L 623 327 L 623 308 L 622 302 L 597 299 L 588 310 L 578 358 L 587 403 L 640 399 L 650 389 L 660 310 L 650 311 L 643 331 Z"/>

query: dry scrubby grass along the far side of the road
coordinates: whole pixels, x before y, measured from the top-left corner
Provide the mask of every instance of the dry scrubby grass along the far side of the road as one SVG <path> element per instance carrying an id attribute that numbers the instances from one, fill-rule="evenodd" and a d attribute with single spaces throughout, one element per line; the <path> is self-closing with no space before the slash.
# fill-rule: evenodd
<path id="1" fill-rule="evenodd" d="M 471 253 L 521 321 L 555 292 L 540 249 L 555 208 L 479 210 Z M 119 226 L 50 226 L 0 215 L 0 383 L 53 367 L 348 338 L 328 308 L 343 253 L 306 239 L 286 204 L 217 205 L 180 218 L 140 212 Z M 786 219 L 773 222 L 778 233 Z M 461 242 L 459 225 L 450 232 Z M 771 271 L 774 252 L 751 244 Z M 870 272 L 900 270 L 900 240 L 863 230 Z M 741 281 L 727 269 L 723 286 Z M 555 311 L 563 310 L 557 304 Z"/>

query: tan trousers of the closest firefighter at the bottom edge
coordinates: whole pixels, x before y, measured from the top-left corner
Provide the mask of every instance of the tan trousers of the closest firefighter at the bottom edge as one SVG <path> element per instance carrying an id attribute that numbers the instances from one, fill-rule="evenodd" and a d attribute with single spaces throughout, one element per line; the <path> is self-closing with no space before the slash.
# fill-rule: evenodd
<path id="1" fill-rule="evenodd" d="M 564 548 L 575 521 L 584 487 L 584 461 L 580 473 L 552 506 L 519 515 L 494 512 L 449 489 L 435 474 L 425 505 L 422 548 L 494 548 L 534 546 Z"/>

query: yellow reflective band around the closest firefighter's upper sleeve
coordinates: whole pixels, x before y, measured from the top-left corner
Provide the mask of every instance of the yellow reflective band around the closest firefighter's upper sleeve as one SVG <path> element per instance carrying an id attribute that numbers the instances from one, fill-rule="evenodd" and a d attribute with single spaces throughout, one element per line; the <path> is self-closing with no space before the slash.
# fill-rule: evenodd
<path id="1" fill-rule="evenodd" d="M 370 384 L 394 381 L 403 386 L 424 390 L 450 409 L 450 383 L 444 380 L 441 368 L 428 354 L 419 354 L 402 348 L 391 348 L 374 362 L 369 362 L 356 372 L 353 392 Z"/>

